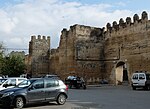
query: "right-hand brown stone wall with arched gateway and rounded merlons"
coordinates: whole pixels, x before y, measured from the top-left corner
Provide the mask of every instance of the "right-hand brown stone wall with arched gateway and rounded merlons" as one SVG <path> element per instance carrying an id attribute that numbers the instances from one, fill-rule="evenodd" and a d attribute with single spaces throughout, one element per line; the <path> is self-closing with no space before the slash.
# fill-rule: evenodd
<path id="1" fill-rule="evenodd" d="M 146 12 L 141 19 L 135 14 L 133 22 L 130 17 L 126 22 L 120 19 L 119 24 L 108 23 L 105 33 L 105 59 L 114 59 L 105 62 L 106 74 L 110 81 L 118 84 L 123 81 L 124 70 L 128 80 L 135 71 L 150 72 L 150 21 Z M 116 60 L 115 60 L 116 59 Z"/>

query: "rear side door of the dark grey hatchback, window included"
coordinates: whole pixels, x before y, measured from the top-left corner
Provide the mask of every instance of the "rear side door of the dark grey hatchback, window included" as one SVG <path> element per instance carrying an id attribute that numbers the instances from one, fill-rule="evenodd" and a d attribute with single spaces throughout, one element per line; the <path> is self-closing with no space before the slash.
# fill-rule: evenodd
<path id="1" fill-rule="evenodd" d="M 59 83 L 55 79 L 45 79 L 45 98 L 53 100 L 59 92 Z"/>

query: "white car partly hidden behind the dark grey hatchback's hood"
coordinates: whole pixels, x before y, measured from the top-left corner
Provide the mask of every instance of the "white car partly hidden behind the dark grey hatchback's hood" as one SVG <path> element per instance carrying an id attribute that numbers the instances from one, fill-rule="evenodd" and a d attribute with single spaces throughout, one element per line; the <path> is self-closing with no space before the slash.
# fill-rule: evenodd
<path id="1" fill-rule="evenodd" d="M 27 80 L 27 78 L 20 78 L 20 77 L 0 78 L 0 90 L 15 87 L 24 80 Z"/>

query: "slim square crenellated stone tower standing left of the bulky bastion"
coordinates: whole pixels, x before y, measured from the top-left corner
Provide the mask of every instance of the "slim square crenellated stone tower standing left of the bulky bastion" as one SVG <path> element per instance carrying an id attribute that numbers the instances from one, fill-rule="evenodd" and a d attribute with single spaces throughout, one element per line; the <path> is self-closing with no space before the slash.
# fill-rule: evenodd
<path id="1" fill-rule="evenodd" d="M 49 50 L 50 50 L 50 37 L 41 37 L 38 35 L 31 36 L 29 42 L 29 61 L 28 73 L 34 76 L 41 76 L 49 73 Z"/>

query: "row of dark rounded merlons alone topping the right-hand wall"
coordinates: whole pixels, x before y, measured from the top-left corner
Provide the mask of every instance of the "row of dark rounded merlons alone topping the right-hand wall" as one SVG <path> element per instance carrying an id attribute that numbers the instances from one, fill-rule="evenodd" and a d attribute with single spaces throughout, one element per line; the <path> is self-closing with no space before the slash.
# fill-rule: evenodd
<path id="1" fill-rule="evenodd" d="M 130 17 L 127 17 L 126 18 L 126 22 L 124 22 L 123 18 L 121 18 L 119 20 L 119 24 L 117 24 L 116 21 L 114 21 L 112 23 L 112 26 L 110 23 L 107 23 L 106 25 L 106 32 L 112 32 L 112 31 L 119 31 L 120 29 L 122 28 L 127 28 L 128 26 L 131 26 L 131 25 L 134 25 L 134 24 L 137 24 L 137 23 L 144 23 L 144 22 L 147 22 L 148 21 L 148 14 L 146 11 L 143 11 L 142 12 L 142 15 L 141 15 L 141 19 L 139 19 L 139 16 L 137 14 L 135 14 L 133 16 L 133 23 L 131 21 L 131 18 Z"/>

